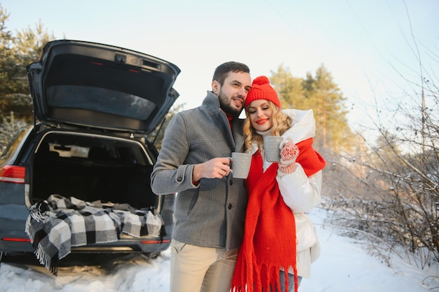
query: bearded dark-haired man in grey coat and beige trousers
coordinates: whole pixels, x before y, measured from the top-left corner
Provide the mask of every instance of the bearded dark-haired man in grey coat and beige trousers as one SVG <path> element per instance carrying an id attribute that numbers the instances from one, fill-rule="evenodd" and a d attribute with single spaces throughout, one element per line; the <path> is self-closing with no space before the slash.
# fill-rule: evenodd
<path id="1" fill-rule="evenodd" d="M 219 65 L 203 104 L 177 113 L 166 128 L 151 187 L 157 195 L 177 193 L 171 292 L 230 291 L 247 196 L 229 158 L 244 150 L 238 116 L 251 84 L 245 64 Z"/>

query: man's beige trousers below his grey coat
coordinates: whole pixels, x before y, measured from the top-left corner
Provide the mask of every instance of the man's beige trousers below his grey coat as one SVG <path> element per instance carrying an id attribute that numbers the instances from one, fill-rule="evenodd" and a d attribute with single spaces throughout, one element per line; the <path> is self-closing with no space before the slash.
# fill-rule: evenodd
<path id="1" fill-rule="evenodd" d="M 170 244 L 170 292 L 229 292 L 238 249 Z"/>

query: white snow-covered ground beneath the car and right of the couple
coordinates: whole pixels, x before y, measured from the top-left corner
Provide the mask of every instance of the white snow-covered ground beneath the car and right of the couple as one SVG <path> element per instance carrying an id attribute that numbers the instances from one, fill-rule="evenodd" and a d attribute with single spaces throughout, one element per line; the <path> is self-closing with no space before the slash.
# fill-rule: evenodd
<path id="1" fill-rule="evenodd" d="M 322 223 L 324 212 L 316 209 L 316 222 L 322 253 L 313 264 L 311 279 L 304 279 L 300 292 L 425 292 L 439 291 L 439 265 L 429 270 L 407 265 L 398 257 L 392 267 L 369 256 L 363 246 Z M 69 255 L 51 275 L 36 262 L 1 263 L 1 292 L 168 292 L 169 250 L 158 258 L 125 255 L 98 257 L 98 263 L 86 263 Z M 90 260 L 88 256 L 87 260 Z M 63 262 L 63 261 L 62 261 Z M 433 277 L 431 277 L 433 276 Z"/>

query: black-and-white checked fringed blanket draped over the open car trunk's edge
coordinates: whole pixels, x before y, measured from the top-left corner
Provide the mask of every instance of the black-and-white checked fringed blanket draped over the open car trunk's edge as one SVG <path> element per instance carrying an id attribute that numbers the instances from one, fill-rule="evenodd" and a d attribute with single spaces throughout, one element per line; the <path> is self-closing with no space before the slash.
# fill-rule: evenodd
<path id="1" fill-rule="evenodd" d="M 135 210 L 128 204 L 104 207 L 99 202 L 50 195 L 32 205 L 25 231 L 36 247 L 36 258 L 56 275 L 59 260 L 72 246 L 115 242 L 121 233 L 163 238 L 164 230 L 163 219 L 154 209 Z"/>

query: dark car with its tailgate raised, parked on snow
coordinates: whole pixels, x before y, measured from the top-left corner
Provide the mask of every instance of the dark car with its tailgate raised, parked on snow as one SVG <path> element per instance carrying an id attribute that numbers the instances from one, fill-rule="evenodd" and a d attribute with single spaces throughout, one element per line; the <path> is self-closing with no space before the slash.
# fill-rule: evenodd
<path id="1" fill-rule="evenodd" d="M 173 231 L 175 194 L 155 195 L 150 174 L 159 128 L 178 92 L 180 69 L 158 57 L 76 40 L 46 43 L 27 66 L 34 123 L 0 158 L 0 259 L 33 253 L 29 210 L 52 195 L 119 204 L 161 216 L 166 235 L 120 234 L 72 253 L 159 254 Z"/>

